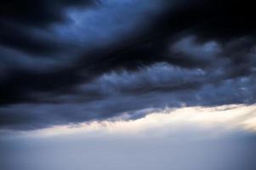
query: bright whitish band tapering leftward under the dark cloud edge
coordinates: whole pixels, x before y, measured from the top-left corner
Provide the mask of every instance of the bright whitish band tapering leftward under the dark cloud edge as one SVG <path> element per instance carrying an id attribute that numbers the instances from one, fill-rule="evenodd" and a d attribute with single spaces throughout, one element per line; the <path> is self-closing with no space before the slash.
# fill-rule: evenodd
<path id="1" fill-rule="evenodd" d="M 201 139 L 221 138 L 232 133 L 256 132 L 256 105 L 192 106 L 145 111 L 135 120 L 123 114 L 103 121 L 82 122 L 17 133 L 26 138 L 84 136 L 87 138 L 138 137 L 142 139 L 175 136 Z M 221 129 L 221 130 L 219 130 Z"/>

